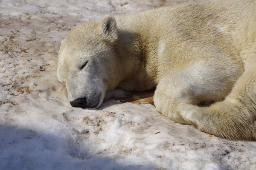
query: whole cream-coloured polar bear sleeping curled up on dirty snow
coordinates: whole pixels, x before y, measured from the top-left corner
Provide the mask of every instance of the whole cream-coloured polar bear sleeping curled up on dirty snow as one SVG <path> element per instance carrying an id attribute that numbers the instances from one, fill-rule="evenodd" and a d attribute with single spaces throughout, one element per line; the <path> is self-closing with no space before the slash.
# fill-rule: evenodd
<path id="1" fill-rule="evenodd" d="M 58 54 L 73 107 L 107 91 L 156 88 L 175 122 L 233 140 L 256 136 L 256 0 L 216 0 L 105 16 L 74 27 Z"/>

